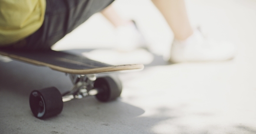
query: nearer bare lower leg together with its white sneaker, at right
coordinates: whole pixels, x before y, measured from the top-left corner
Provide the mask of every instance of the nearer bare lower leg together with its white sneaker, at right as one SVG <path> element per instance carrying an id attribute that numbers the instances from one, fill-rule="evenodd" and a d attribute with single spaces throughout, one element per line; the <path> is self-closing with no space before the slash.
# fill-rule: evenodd
<path id="1" fill-rule="evenodd" d="M 152 2 L 174 32 L 171 62 L 222 61 L 235 56 L 236 50 L 233 44 L 210 42 L 199 31 L 193 31 L 188 21 L 184 0 L 152 0 Z"/>

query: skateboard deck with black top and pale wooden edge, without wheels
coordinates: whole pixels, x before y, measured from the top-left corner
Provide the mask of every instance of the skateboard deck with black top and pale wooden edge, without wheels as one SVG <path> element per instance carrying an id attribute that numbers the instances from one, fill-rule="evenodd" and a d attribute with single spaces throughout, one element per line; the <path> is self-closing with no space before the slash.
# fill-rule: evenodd
<path id="1" fill-rule="evenodd" d="M 0 49 L 0 55 L 8 56 L 22 62 L 34 65 L 47 66 L 60 72 L 87 75 L 104 72 L 116 72 L 124 70 L 143 69 L 142 64 L 132 65 L 109 65 L 94 61 L 83 56 L 77 56 L 70 53 L 47 50 L 47 51 L 20 51 Z"/>

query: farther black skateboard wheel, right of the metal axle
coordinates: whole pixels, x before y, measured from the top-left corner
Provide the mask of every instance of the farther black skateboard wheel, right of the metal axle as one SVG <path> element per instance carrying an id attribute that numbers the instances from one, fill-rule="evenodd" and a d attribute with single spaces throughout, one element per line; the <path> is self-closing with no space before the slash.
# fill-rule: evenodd
<path id="1" fill-rule="evenodd" d="M 118 78 L 114 79 L 108 76 L 97 78 L 94 87 L 99 90 L 96 98 L 102 102 L 115 100 L 122 92 L 121 81 Z"/>

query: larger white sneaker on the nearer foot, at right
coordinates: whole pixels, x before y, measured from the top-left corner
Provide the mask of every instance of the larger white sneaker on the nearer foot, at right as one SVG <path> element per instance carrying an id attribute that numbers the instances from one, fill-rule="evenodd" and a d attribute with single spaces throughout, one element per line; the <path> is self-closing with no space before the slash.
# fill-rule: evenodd
<path id="1" fill-rule="evenodd" d="M 185 41 L 173 41 L 170 62 L 207 62 L 232 59 L 236 49 L 228 42 L 215 43 L 196 30 Z"/>

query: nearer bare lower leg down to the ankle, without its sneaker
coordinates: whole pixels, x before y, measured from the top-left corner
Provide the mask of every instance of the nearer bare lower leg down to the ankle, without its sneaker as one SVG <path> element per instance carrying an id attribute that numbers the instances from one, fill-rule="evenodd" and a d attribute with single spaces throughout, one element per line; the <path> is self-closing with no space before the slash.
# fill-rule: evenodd
<path id="1" fill-rule="evenodd" d="M 193 34 L 187 17 L 184 0 L 152 0 L 174 32 L 177 40 L 185 40 Z"/>

